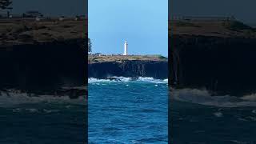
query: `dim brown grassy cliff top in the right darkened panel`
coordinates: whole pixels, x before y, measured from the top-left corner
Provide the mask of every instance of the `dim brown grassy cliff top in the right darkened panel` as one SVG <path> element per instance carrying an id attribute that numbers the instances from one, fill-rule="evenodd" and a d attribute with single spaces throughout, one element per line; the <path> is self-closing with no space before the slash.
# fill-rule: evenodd
<path id="1" fill-rule="evenodd" d="M 203 35 L 224 38 L 256 38 L 256 29 L 236 20 L 170 20 L 170 35 Z"/>

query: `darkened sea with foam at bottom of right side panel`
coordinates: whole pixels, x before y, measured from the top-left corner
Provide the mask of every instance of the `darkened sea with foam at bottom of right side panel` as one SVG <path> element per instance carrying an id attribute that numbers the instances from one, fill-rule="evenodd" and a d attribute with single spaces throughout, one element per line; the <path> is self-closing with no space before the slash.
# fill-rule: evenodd
<path id="1" fill-rule="evenodd" d="M 207 90 L 172 90 L 170 137 L 174 144 L 256 143 L 256 95 L 210 96 Z"/>

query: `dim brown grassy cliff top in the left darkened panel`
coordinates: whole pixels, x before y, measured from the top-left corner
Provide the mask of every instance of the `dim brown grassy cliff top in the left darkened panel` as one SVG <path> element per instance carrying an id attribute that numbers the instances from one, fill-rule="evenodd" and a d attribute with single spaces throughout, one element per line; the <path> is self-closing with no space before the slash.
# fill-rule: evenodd
<path id="1" fill-rule="evenodd" d="M 87 19 L 35 18 L 0 19 L 0 46 L 54 42 L 86 38 Z"/>

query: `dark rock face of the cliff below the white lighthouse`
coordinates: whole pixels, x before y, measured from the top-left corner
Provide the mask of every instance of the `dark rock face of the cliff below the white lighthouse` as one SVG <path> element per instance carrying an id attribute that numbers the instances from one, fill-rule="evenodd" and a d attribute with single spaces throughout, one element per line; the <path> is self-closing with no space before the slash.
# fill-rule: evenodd
<path id="1" fill-rule="evenodd" d="M 167 61 L 122 61 L 91 63 L 88 67 L 89 78 L 152 77 L 167 78 Z"/>

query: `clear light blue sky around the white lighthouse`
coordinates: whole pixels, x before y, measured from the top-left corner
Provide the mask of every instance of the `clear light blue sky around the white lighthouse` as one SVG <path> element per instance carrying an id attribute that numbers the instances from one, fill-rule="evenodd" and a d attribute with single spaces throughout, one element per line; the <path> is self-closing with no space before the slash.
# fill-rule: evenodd
<path id="1" fill-rule="evenodd" d="M 167 0 L 89 0 L 93 53 L 168 54 Z"/>

